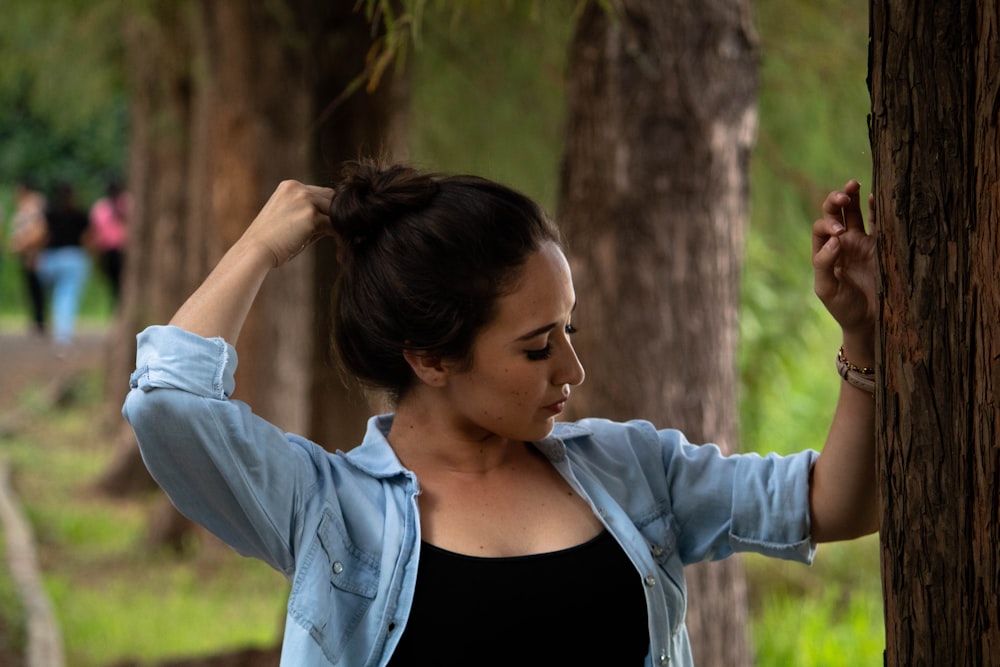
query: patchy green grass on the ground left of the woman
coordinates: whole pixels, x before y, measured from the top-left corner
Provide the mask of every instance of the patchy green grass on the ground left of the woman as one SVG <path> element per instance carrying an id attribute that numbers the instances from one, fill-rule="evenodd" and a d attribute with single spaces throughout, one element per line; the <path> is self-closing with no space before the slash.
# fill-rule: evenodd
<path id="1" fill-rule="evenodd" d="M 94 419 L 100 389 L 100 378 L 89 375 L 61 408 L 41 406 L 35 390 L 25 391 L 21 402 L 35 419 L 0 442 L 35 530 L 67 664 L 98 667 L 280 641 L 283 577 L 206 535 L 182 557 L 150 549 L 147 521 L 162 502 L 158 494 L 114 500 L 94 491 L 114 454 Z M 0 613 L 19 619 L 9 591 L 9 580 L 0 578 Z"/>

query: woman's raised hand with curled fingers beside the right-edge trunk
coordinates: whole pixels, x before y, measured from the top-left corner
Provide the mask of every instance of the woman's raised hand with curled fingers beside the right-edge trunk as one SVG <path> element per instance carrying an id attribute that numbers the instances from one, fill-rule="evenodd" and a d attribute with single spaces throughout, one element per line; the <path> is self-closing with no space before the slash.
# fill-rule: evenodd
<path id="1" fill-rule="evenodd" d="M 871 337 L 876 318 L 875 239 L 865 231 L 861 186 L 851 180 L 823 202 L 813 224 L 812 261 L 816 295 L 845 334 Z M 874 224 L 873 199 L 868 198 Z"/>

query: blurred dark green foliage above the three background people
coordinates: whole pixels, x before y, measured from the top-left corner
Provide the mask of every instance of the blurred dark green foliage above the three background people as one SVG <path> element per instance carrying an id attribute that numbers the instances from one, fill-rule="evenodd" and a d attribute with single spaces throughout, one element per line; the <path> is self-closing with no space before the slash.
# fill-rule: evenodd
<path id="1" fill-rule="evenodd" d="M 0 21 L 0 183 L 72 183 L 81 200 L 123 172 L 128 105 L 115 2 L 8 0 Z"/>

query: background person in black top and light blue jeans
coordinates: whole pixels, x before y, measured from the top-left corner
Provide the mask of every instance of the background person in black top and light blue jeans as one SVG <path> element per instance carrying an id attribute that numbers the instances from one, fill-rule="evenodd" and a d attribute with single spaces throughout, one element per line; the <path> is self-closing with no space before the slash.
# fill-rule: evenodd
<path id="1" fill-rule="evenodd" d="M 38 255 L 38 277 L 51 292 L 52 339 L 65 350 L 76 333 L 91 259 L 84 247 L 90 221 L 77 206 L 72 186 L 62 183 L 45 210 L 48 242 Z"/>

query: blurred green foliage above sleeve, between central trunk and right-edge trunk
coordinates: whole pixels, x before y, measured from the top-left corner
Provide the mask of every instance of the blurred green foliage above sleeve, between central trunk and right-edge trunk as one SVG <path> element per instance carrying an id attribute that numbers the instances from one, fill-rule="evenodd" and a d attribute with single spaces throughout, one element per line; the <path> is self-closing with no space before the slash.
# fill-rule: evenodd
<path id="1" fill-rule="evenodd" d="M 839 330 L 812 291 L 810 227 L 826 194 L 870 179 L 867 3 L 758 0 L 760 129 L 742 282 L 743 448 L 819 447 Z"/>

